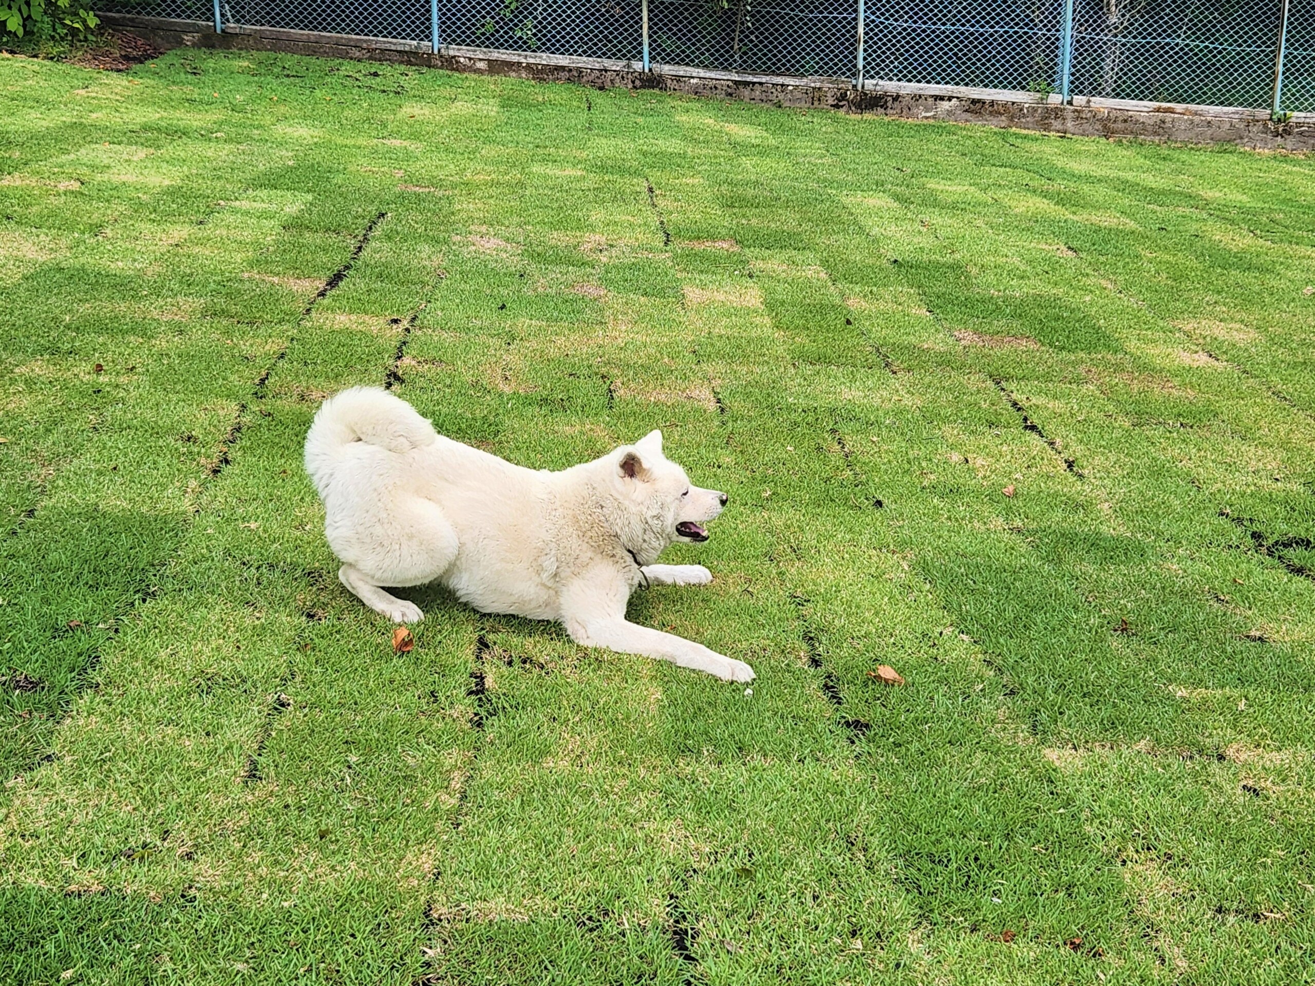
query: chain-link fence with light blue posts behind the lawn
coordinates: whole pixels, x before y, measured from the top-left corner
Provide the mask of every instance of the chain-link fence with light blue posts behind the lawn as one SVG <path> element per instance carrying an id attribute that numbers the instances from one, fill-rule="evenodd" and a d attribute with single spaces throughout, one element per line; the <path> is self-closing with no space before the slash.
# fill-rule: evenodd
<path id="1" fill-rule="evenodd" d="M 1315 0 L 103 0 L 108 13 L 1057 103 L 1315 112 Z M 986 91 L 986 92 L 981 92 Z"/>

